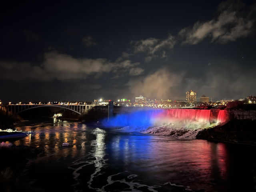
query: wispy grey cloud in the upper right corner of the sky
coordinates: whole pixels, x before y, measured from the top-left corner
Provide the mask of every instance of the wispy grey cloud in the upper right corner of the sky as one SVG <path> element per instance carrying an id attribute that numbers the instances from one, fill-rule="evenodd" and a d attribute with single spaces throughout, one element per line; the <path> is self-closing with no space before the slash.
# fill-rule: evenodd
<path id="1" fill-rule="evenodd" d="M 226 1 L 220 4 L 217 18 L 196 22 L 192 27 L 180 30 L 179 35 L 185 38 L 182 43 L 198 44 L 205 38 L 211 38 L 211 42 L 227 43 L 252 33 L 255 18 L 244 16 L 239 4 L 230 3 Z"/>

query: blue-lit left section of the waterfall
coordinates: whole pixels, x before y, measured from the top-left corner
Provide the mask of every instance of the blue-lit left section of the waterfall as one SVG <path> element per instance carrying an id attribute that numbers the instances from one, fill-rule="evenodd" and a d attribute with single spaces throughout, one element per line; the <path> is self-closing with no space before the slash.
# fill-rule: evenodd
<path id="1" fill-rule="evenodd" d="M 124 127 L 124 126 L 152 126 L 154 125 L 154 118 L 158 114 L 162 114 L 161 109 L 143 109 L 136 110 L 129 114 L 119 114 L 115 117 L 103 120 L 103 125 L 107 127 Z"/>

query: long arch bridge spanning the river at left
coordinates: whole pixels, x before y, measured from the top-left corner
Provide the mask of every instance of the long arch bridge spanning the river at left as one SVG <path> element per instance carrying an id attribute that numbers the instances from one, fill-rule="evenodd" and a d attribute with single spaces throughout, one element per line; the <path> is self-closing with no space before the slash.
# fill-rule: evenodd
<path id="1" fill-rule="evenodd" d="M 10 104 L 7 106 L 6 113 L 11 114 L 18 114 L 20 112 L 30 110 L 32 108 L 39 108 L 39 107 L 58 107 L 71 110 L 82 115 L 84 112 L 90 110 L 95 105 L 61 105 L 61 104 Z"/>

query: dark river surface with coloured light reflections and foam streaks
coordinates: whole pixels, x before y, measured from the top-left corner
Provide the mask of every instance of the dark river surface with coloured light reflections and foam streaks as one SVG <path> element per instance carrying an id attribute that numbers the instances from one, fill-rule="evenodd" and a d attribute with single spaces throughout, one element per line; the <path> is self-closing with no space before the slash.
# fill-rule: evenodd
<path id="1" fill-rule="evenodd" d="M 49 118 L 15 145 L 39 147 L 20 177 L 27 191 L 255 191 L 255 147 L 177 140 Z M 67 142 L 71 146 L 62 147 Z"/>

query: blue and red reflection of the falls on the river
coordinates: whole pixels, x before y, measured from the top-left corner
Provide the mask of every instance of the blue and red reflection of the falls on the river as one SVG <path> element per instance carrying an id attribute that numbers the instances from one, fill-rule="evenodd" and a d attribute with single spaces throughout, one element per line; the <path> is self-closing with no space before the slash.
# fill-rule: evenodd
<path id="1" fill-rule="evenodd" d="M 120 134 L 107 144 L 110 165 L 130 170 L 150 182 L 199 186 L 226 180 L 225 144 L 202 140 Z"/>

